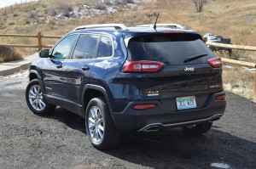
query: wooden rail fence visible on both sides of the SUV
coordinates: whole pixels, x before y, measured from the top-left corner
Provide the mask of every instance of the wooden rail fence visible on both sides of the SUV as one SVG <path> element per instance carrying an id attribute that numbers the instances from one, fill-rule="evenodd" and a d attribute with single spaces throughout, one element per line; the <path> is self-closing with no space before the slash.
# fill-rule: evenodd
<path id="1" fill-rule="evenodd" d="M 38 32 L 37 35 L 20 35 L 20 34 L 0 34 L 0 37 L 29 37 L 29 38 L 38 38 L 38 44 L 37 45 L 27 45 L 27 44 L 1 44 L 0 46 L 5 47 L 16 47 L 16 48 L 38 48 L 39 50 L 42 50 L 42 48 L 51 48 L 53 45 L 45 45 L 43 43 L 43 38 L 57 38 L 60 39 L 62 36 L 49 36 L 49 35 L 43 35 L 41 32 Z M 223 44 L 223 43 L 217 43 L 217 42 L 207 42 L 207 38 L 204 39 L 206 41 L 207 45 L 218 47 L 218 48 L 232 48 L 232 49 L 239 49 L 239 50 L 248 50 L 248 51 L 256 51 L 256 47 L 250 47 L 250 46 L 239 46 L 239 45 L 231 45 L 231 44 Z M 222 58 L 222 61 L 224 63 L 228 64 L 234 64 L 234 65 L 241 65 L 241 66 L 247 66 L 251 68 L 256 68 L 255 63 L 235 60 L 235 59 L 224 59 Z M 256 99 L 256 72 L 254 73 L 254 87 L 253 87 L 253 98 Z"/>

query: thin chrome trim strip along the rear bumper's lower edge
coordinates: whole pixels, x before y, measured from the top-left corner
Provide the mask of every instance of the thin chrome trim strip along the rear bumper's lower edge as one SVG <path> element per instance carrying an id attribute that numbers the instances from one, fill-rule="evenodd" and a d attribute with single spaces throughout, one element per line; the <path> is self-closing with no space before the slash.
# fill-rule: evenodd
<path id="1" fill-rule="evenodd" d="M 173 127 L 173 126 L 180 126 L 180 125 L 183 126 L 183 125 L 190 124 L 190 123 L 200 123 L 202 121 L 212 121 L 213 119 L 220 118 L 221 116 L 222 116 L 222 114 L 217 114 L 217 115 L 212 115 L 211 117 L 209 117 L 207 119 L 201 119 L 201 120 L 196 120 L 196 121 L 177 122 L 177 123 L 165 124 L 165 125 L 160 122 L 151 123 L 141 129 L 139 129 L 138 131 L 139 132 L 147 132 L 150 127 Z"/>

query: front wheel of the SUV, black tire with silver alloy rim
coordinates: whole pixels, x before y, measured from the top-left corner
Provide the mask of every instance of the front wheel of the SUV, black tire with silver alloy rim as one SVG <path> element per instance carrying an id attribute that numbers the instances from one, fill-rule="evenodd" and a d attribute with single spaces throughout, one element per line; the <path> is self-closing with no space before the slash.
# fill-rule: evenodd
<path id="1" fill-rule="evenodd" d="M 36 115 L 49 115 L 56 108 L 44 99 L 38 79 L 32 80 L 26 87 L 26 104 Z"/>

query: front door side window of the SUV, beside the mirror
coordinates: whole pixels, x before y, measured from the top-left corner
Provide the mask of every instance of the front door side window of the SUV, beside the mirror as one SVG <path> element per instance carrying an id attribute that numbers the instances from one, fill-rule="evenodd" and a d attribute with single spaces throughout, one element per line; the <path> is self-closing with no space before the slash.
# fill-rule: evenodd
<path id="1" fill-rule="evenodd" d="M 62 39 L 53 50 L 52 56 L 54 59 L 66 59 L 73 48 L 73 43 L 75 42 L 76 37 L 77 35 L 71 35 Z"/>

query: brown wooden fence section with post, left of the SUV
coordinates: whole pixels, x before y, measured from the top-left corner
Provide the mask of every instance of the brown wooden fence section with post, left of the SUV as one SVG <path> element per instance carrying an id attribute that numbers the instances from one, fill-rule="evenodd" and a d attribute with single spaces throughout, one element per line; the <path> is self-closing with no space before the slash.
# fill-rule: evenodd
<path id="1" fill-rule="evenodd" d="M 43 38 L 57 38 L 60 39 L 62 36 L 49 36 L 42 35 L 41 32 L 38 32 L 37 35 L 20 35 L 20 34 L 0 34 L 0 37 L 29 37 L 29 38 L 38 38 L 38 45 L 27 45 L 27 44 L 2 44 L 2 47 L 16 47 L 16 48 L 38 48 L 38 51 L 42 50 L 42 48 L 51 48 L 53 45 L 45 45 L 43 44 Z"/>

